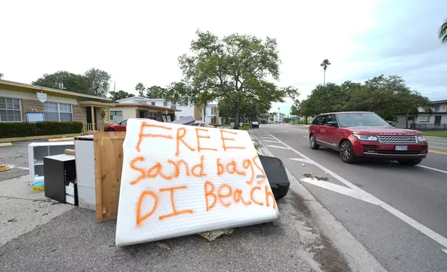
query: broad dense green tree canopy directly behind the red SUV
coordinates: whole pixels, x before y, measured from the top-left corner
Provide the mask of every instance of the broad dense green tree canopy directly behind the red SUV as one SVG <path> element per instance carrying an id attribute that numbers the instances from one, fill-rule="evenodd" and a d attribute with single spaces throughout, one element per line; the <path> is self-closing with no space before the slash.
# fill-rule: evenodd
<path id="1" fill-rule="evenodd" d="M 419 108 L 430 108 L 426 97 L 410 90 L 400 76 L 380 75 L 364 84 L 346 81 L 341 85 L 317 85 L 294 113 L 314 116 L 323 112 L 362 110 L 395 119 L 396 114 L 417 114 Z"/>

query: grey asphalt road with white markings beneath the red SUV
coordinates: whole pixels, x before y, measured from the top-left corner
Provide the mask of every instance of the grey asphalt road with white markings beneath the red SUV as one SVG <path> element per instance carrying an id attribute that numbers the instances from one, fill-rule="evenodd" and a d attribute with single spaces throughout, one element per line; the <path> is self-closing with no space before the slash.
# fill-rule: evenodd
<path id="1" fill-rule="evenodd" d="M 428 158 L 405 167 L 345 164 L 335 151 L 310 149 L 306 127 L 253 133 L 389 271 L 447 271 L 447 139 L 428 137 Z"/>

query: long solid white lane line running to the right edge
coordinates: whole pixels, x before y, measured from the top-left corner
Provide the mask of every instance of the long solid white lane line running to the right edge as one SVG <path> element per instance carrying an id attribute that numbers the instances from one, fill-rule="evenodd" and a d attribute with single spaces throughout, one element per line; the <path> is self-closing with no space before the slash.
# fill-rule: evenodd
<path id="1" fill-rule="evenodd" d="M 313 162 L 313 164 L 315 164 L 315 166 L 319 167 L 319 169 L 325 171 L 326 173 L 329 173 L 330 176 L 336 178 L 337 180 L 339 180 L 344 185 L 350 187 L 351 189 L 354 189 L 357 192 L 362 192 L 362 194 L 364 196 L 368 196 L 368 198 L 367 198 L 369 200 L 368 202 L 376 201 L 376 200 L 380 201 L 380 199 L 378 199 L 375 196 L 365 192 L 364 190 L 360 189 L 359 187 L 353 185 L 353 183 L 349 182 L 348 180 L 346 180 L 344 178 L 341 178 L 341 176 L 337 175 L 337 173 L 334 173 L 334 172 L 330 171 L 329 169 L 327 169 L 326 167 L 323 167 L 323 165 L 319 164 L 318 162 L 315 162 L 314 160 L 308 158 L 303 153 L 296 151 L 296 149 L 294 149 L 291 146 L 289 146 L 289 145 L 285 144 L 284 142 L 280 141 L 280 139 L 274 137 L 273 135 L 272 135 L 272 137 L 275 138 L 278 142 L 281 142 L 281 144 L 283 144 L 284 146 L 287 146 L 289 148 L 289 150 L 294 151 L 294 153 L 296 153 L 296 154 L 300 155 L 301 157 L 305 158 L 305 160 Z M 283 147 L 281 147 L 281 148 L 283 148 Z M 418 221 L 416 221 L 416 220 L 412 219 L 410 216 L 407 216 L 406 214 L 403 214 L 402 212 L 396 210 L 394 207 L 391 207 L 387 203 L 385 203 L 383 201 L 380 201 L 380 203 L 382 203 L 382 204 L 376 204 L 376 205 L 380 205 L 380 207 L 382 207 L 383 209 L 387 210 L 391 214 L 394 214 L 395 216 L 397 216 L 399 219 L 401 219 L 405 223 L 409 224 L 413 228 L 416 228 L 416 230 L 419 230 L 424 235 L 427 235 L 431 239 L 437 241 L 439 244 L 441 244 L 442 246 L 447 248 L 447 238 L 446 237 L 443 237 L 443 236 L 439 235 L 437 232 L 434 232 L 433 230 L 430 230 L 430 228 L 427 228 L 427 227 L 423 226 Z"/>

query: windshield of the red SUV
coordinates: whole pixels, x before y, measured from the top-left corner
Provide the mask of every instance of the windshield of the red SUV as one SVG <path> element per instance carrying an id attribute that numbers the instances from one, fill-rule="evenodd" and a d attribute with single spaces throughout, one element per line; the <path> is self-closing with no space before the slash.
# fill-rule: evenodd
<path id="1" fill-rule="evenodd" d="M 353 126 L 390 126 L 373 112 L 350 112 L 337 114 L 340 128 Z"/>

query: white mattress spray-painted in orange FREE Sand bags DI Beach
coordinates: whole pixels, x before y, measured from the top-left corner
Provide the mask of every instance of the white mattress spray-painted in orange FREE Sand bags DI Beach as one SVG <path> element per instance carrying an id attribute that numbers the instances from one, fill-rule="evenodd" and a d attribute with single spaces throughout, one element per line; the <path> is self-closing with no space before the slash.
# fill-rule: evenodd
<path id="1" fill-rule="evenodd" d="M 129 119 L 126 130 L 117 246 L 278 219 L 269 181 L 246 131 L 144 119 Z M 189 175 L 181 160 L 189 165 Z"/>

